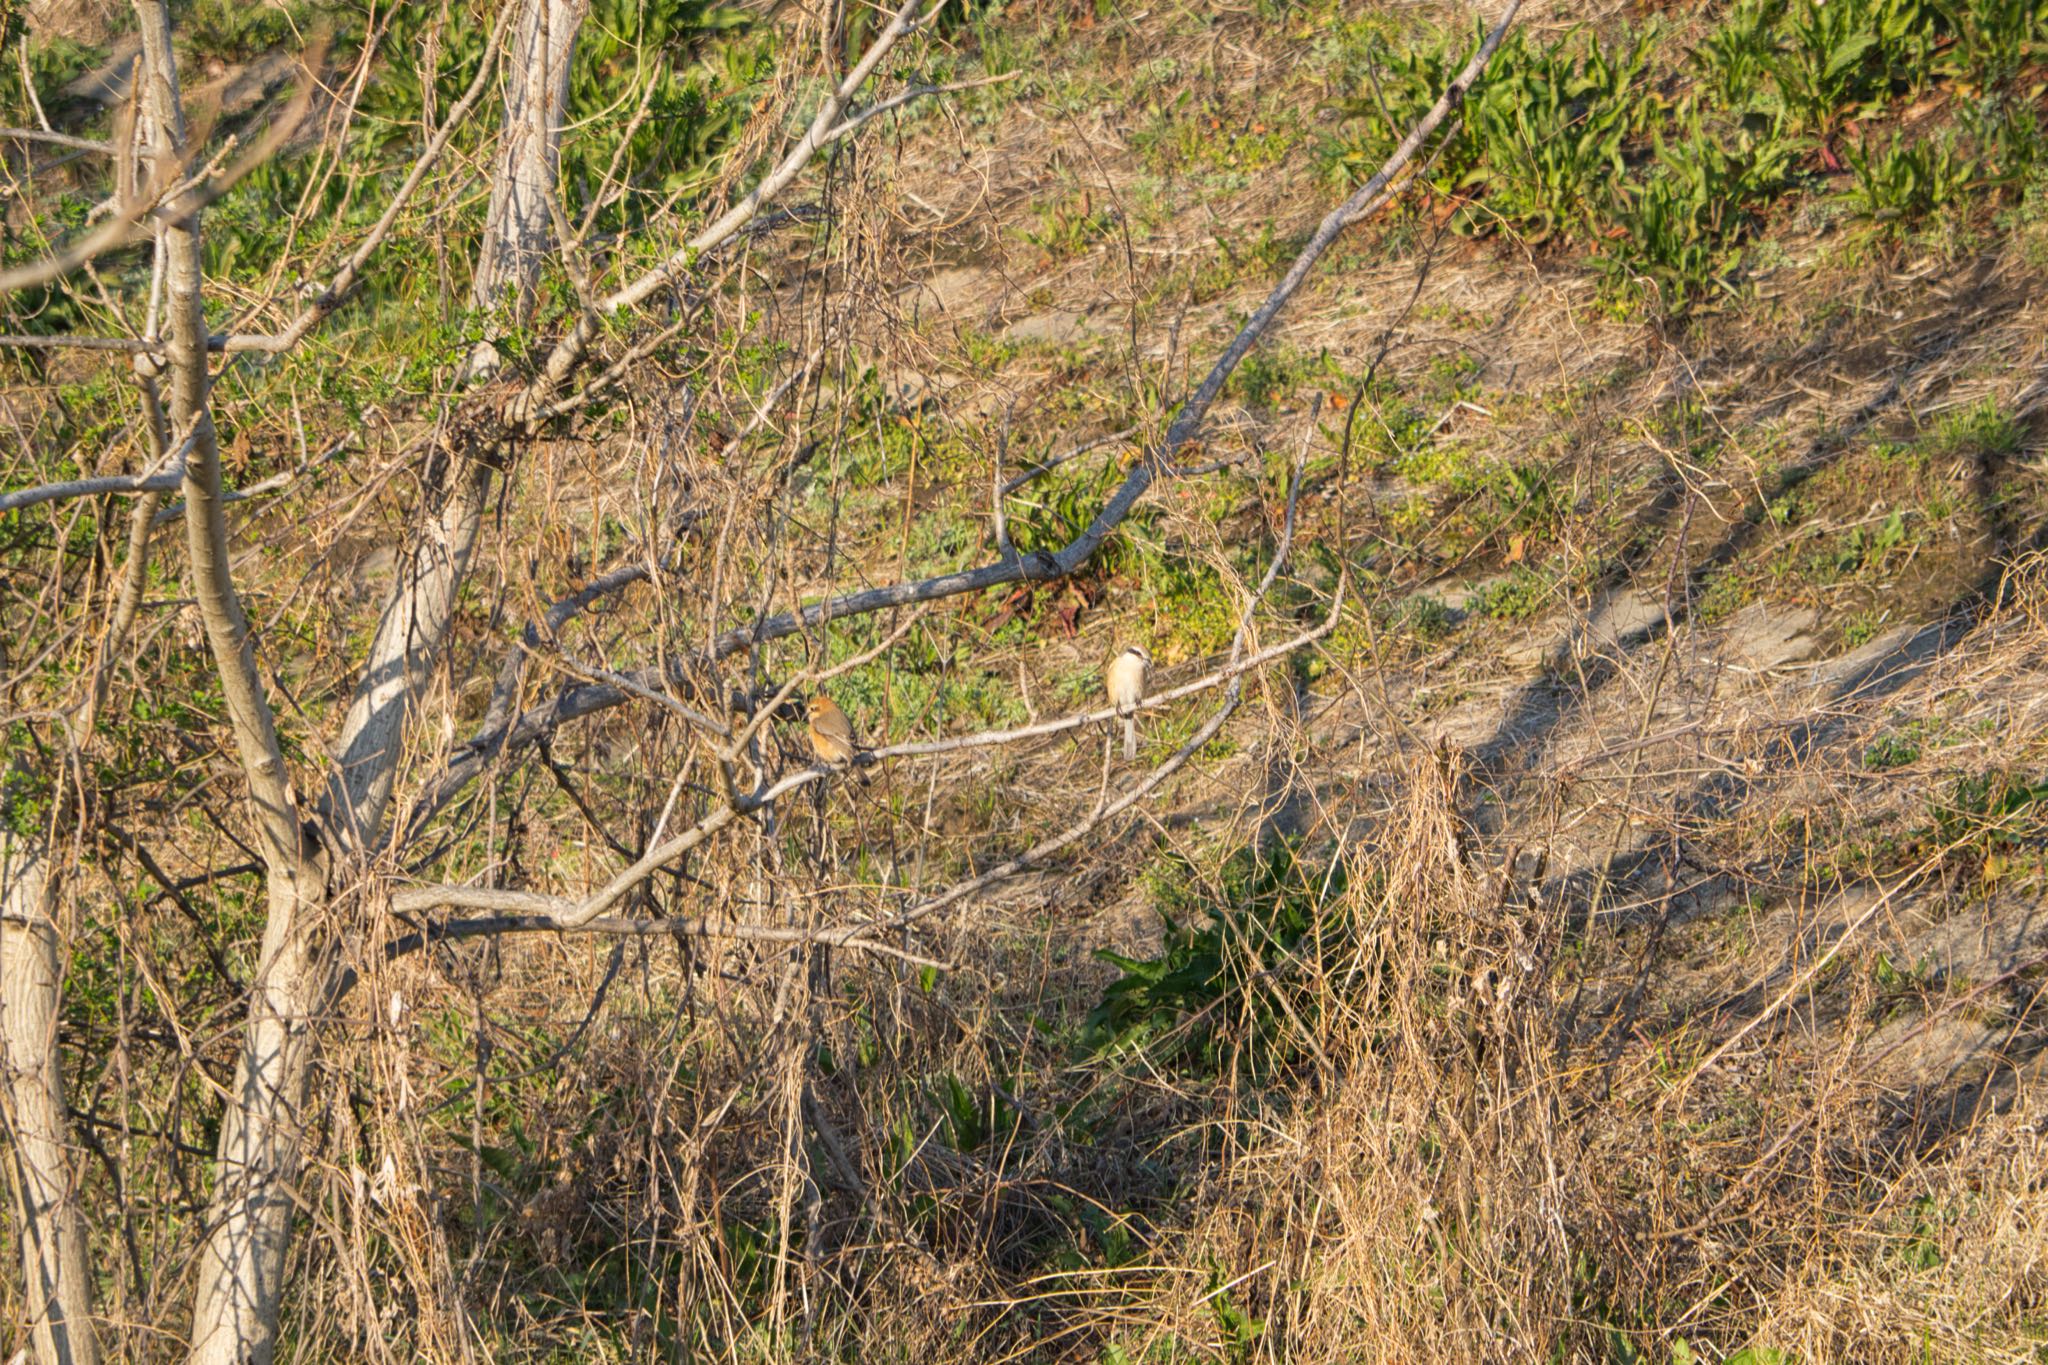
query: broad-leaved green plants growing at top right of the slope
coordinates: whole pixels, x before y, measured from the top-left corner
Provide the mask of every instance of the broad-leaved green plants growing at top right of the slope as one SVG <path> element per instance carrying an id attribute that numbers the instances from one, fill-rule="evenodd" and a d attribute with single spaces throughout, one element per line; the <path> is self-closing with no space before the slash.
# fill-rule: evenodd
<path id="1" fill-rule="evenodd" d="M 1511 33 L 1430 170 L 1454 225 L 1591 246 L 1612 297 L 1679 313 L 1733 284 L 1792 188 L 1903 233 L 2040 174 L 2048 12 L 2028 0 L 1739 0 L 1690 51 L 1669 33 Z M 1352 184 L 1378 168 L 1470 47 L 1464 29 L 1432 29 L 1346 65 L 1325 172 Z M 1872 131 L 1937 86 L 1952 123 Z"/>

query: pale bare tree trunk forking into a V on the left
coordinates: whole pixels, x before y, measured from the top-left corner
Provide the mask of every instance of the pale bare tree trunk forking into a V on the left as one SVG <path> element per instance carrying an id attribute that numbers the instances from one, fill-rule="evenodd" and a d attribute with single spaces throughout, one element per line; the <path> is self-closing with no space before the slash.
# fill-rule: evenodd
<path id="1" fill-rule="evenodd" d="M 137 10 L 143 16 L 143 61 L 152 82 L 150 108 L 158 123 L 158 145 L 182 153 L 168 20 L 158 0 L 137 0 Z M 547 141 L 547 194 L 553 194 L 553 147 L 567 92 L 567 65 L 559 65 L 561 96 L 553 106 L 557 117 Z M 549 215 L 545 199 L 510 196 L 510 203 L 537 205 L 543 221 Z M 268 921 L 250 986 L 250 1017 L 231 1103 L 221 1121 L 219 1177 L 199 1259 L 188 1359 L 193 1365 L 266 1365 L 276 1351 L 283 1310 L 307 1083 L 317 1050 L 315 1025 L 332 999 L 338 966 L 334 933 L 326 925 L 334 913 L 328 888 L 342 874 L 332 855 L 367 849 L 377 841 L 412 702 L 455 618 L 457 593 L 483 522 L 489 467 L 463 463 L 451 471 L 453 487 L 442 508 L 428 512 L 424 534 L 406 557 L 406 571 L 385 604 L 342 726 L 340 769 L 319 802 L 317 827 L 330 841 L 330 847 L 319 847 L 303 833 L 297 798 L 285 780 L 283 751 L 256 671 L 248 622 L 227 573 L 219 446 L 207 407 L 199 260 L 197 217 L 170 227 L 170 417 L 174 430 L 195 434 L 184 479 L 186 542 L 195 593 L 264 835 Z M 508 260 L 510 266 L 494 266 L 500 270 L 494 278 L 524 282 L 530 293 L 539 260 L 524 254 Z M 516 274 L 506 274 L 512 268 Z"/>

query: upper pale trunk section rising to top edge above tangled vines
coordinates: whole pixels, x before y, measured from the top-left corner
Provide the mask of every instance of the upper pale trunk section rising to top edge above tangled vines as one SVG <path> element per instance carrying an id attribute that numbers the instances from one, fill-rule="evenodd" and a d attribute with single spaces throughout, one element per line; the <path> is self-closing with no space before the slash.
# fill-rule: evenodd
<path id="1" fill-rule="evenodd" d="M 532 311 L 535 284 L 555 239 L 549 205 L 561 174 L 569 61 L 590 0 L 516 2 L 520 16 L 506 63 L 504 131 L 471 301 L 479 309 L 502 307 L 512 319 L 524 319 Z M 471 354 L 471 372 L 485 375 L 496 364 L 498 352 L 489 342 L 479 342 Z"/>

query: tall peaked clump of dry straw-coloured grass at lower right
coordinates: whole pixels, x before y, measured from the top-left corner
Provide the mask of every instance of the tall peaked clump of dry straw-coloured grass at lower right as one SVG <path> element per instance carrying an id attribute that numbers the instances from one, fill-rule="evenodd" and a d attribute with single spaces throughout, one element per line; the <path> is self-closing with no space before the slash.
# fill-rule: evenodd
<path id="1" fill-rule="evenodd" d="M 1440 761 L 1399 821 L 1331 907 L 1352 952 L 1298 964 L 1311 1060 L 1190 1119 L 1235 1140 L 1184 1173 L 1135 1326 L 1098 1320 L 1114 1359 L 2036 1359 L 2025 1085 L 1933 1132 L 1858 1074 L 1866 1027 L 1733 1076 L 1675 1064 L 1683 1029 L 1575 1038 L 1565 915 L 1464 851 Z"/>

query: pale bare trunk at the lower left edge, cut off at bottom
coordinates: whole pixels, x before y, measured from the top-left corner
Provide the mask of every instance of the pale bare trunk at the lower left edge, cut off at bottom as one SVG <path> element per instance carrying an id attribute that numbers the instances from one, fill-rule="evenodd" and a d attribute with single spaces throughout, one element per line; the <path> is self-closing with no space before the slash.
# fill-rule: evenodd
<path id="1" fill-rule="evenodd" d="M 53 890 L 45 849 L 0 825 L 0 1081 L 29 1345 L 41 1365 L 98 1365 L 86 1218 L 66 1162 Z"/>

